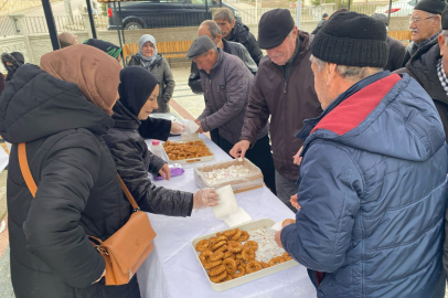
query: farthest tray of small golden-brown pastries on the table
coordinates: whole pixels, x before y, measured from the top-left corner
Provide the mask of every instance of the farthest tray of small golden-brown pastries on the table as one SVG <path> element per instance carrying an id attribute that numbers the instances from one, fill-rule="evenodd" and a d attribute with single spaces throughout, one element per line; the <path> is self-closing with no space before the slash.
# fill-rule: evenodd
<path id="1" fill-rule="evenodd" d="M 166 141 L 162 145 L 163 153 L 170 163 L 193 163 L 214 159 L 212 149 L 204 140 L 183 139 L 179 141 Z"/>

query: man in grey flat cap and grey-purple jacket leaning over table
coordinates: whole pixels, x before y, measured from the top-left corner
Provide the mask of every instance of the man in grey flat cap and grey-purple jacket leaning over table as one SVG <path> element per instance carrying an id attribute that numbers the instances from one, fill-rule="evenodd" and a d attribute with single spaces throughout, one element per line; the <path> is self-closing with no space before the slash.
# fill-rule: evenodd
<path id="1" fill-rule="evenodd" d="M 225 53 L 207 35 L 194 40 L 186 57 L 198 64 L 204 91 L 205 109 L 195 121 L 200 126 L 198 132 L 217 129 L 218 146 L 228 153 L 241 137 L 254 75 L 241 58 Z M 257 143 L 248 150 L 247 158 L 262 170 L 266 187 L 276 193 L 268 128 L 266 121 L 257 131 Z"/>

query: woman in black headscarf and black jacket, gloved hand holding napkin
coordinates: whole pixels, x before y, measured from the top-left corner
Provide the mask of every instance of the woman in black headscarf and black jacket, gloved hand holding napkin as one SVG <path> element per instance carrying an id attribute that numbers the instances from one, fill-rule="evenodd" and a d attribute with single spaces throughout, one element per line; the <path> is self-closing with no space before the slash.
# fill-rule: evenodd
<path id="1" fill-rule="evenodd" d="M 120 72 L 120 99 L 114 106 L 115 120 L 105 136 L 114 156 L 118 173 L 136 199 L 140 209 L 157 214 L 190 216 L 192 209 L 217 204 L 213 189 L 183 192 L 157 188 L 148 172 L 169 173 L 164 160 L 151 153 L 138 132 L 140 120 L 158 107 L 159 82 L 145 68 L 129 66 Z M 169 174 L 167 177 L 169 179 Z"/>

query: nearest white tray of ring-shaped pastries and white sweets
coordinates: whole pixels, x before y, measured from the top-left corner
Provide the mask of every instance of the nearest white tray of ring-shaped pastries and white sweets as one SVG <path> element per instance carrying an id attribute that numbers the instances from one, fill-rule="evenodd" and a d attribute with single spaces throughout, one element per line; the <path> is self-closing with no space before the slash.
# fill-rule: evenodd
<path id="1" fill-rule="evenodd" d="M 193 240 L 198 266 L 223 291 L 298 266 L 274 241 L 273 220 L 259 220 Z"/>

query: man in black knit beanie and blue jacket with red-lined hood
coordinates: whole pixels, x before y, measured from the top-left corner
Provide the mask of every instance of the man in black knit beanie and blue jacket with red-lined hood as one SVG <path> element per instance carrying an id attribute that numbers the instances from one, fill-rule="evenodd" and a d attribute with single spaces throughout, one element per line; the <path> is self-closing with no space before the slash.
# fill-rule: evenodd
<path id="1" fill-rule="evenodd" d="M 383 71 L 385 40 L 383 23 L 351 11 L 311 45 L 324 111 L 298 134 L 298 212 L 275 238 L 317 297 L 445 296 L 442 124 L 415 79 Z"/>

